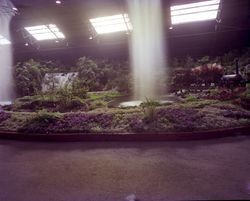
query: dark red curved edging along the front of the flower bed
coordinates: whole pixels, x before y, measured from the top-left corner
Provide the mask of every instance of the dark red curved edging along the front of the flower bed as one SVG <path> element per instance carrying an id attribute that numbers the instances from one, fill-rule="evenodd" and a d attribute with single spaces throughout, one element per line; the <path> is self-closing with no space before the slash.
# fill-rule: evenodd
<path id="1" fill-rule="evenodd" d="M 250 126 L 215 129 L 210 131 L 176 133 L 60 133 L 60 134 L 24 134 L 0 131 L 0 139 L 40 142 L 109 142 L 109 141 L 189 141 L 224 138 L 229 136 L 250 135 Z"/>

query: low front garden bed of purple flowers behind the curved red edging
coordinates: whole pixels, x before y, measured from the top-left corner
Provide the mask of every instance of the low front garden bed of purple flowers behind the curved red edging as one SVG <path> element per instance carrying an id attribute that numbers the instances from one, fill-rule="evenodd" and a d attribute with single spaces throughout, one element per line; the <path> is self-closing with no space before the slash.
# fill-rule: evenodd
<path id="1" fill-rule="evenodd" d="M 107 95 L 104 95 L 107 97 Z M 20 100 L 9 111 L 0 112 L 0 130 L 24 134 L 173 134 L 202 133 L 211 130 L 248 127 L 250 111 L 233 101 L 219 101 L 188 96 L 172 105 L 145 103 L 137 108 L 109 108 L 113 98 L 93 95 L 103 101 L 94 109 L 59 112 L 45 105 L 37 110 L 20 109 Z M 88 97 L 90 99 L 91 97 Z M 36 97 L 37 99 L 37 97 Z M 23 101 L 23 102 L 22 102 Z M 27 104 L 30 98 L 22 98 Z M 84 106 L 85 107 L 85 106 Z M 14 109 L 12 109 L 14 108 Z M 49 109 L 48 109 L 49 108 Z M 46 110 L 47 109 L 47 110 Z"/>

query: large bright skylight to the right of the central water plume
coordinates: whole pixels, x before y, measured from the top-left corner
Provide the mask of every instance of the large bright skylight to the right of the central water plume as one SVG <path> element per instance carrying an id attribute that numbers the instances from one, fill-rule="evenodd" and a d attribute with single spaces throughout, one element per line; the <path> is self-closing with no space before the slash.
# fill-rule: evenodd
<path id="1" fill-rule="evenodd" d="M 171 6 L 172 24 L 215 20 L 218 15 L 220 0 Z"/>

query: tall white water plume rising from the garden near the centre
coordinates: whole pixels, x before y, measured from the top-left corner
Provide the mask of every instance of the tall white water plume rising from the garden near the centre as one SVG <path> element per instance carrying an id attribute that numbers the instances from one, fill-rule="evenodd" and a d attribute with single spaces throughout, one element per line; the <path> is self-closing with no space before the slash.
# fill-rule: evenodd
<path id="1" fill-rule="evenodd" d="M 130 63 L 134 99 L 158 99 L 166 79 L 166 51 L 161 0 L 127 0 L 133 30 Z"/>

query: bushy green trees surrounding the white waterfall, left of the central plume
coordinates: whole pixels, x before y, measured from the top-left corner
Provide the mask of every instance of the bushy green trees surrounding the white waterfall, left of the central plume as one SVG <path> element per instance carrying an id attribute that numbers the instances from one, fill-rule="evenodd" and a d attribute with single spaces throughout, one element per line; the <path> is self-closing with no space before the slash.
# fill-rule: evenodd
<path id="1" fill-rule="evenodd" d="M 125 93 L 130 92 L 130 74 L 127 62 L 81 57 L 75 67 L 66 69 L 62 65 L 57 65 L 60 64 L 52 61 L 40 62 L 33 59 L 17 63 L 14 78 L 18 95 L 32 96 L 41 93 L 45 74 L 59 72 L 78 72 L 78 77 L 71 86 L 73 92 L 76 93 L 81 93 L 81 89 L 83 91 L 116 89 Z"/>

